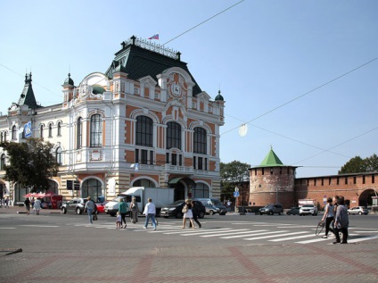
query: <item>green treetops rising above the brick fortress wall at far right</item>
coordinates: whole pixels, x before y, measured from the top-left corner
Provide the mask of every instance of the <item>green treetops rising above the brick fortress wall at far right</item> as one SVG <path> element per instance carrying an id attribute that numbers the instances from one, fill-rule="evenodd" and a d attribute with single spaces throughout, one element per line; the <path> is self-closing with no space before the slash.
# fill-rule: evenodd
<path id="1" fill-rule="evenodd" d="M 370 157 L 362 159 L 359 156 L 353 157 L 346 162 L 339 171 L 339 174 L 363 173 L 378 171 L 378 156 L 373 154 Z"/>

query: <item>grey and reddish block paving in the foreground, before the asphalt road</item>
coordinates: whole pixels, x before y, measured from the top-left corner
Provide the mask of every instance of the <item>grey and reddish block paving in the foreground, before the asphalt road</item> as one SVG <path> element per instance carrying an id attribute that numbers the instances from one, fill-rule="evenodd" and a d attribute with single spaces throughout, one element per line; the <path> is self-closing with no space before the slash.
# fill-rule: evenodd
<path id="1" fill-rule="evenodd" d="M 349 245 L 215 247 L 185 246 L 183 241 L 183 246 L 152 246 L 125 245 L 119 252 L 94 245 L 77 253 L 65 253 L 62 247 L 62 253 L 0 254 L 0 279 L 14 283 L 378 282 L 377 240 Z"/>

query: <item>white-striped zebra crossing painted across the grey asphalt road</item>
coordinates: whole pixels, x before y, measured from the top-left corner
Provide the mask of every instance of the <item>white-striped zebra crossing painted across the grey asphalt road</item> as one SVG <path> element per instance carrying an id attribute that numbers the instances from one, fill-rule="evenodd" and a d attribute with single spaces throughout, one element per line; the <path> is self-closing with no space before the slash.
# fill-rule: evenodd
<path id="1" fill-rule="evenodd" d="M 245 223 L 244 223 L 245 224 Z M 256 223 L 252 228 L 211 228 L 210 225 L 202 229 L 181 229 L 180 226 L 173 224 L 160 224 L 157 230 L 133 228 L 134 232 L 160 233 L 163 235 L 178 235 L 181 237 L 203 237 L 203 238 L 220 238 L 220 239 L 242 239 L 245 241 L 266 240 L 272 243 L 287 243 L 293 242 L 296 244 L 312 244 L 318 242 L 325 242 L 325 244 L 332 244 L 333 237 L 322 238 L 315 235 L 313 226 L 294 226 L 291 224 L 262 224 Z M 302 230 L 298 230 L 298 228 Z M 296 229 L 296 230 L 293 230 Z M 331 234 L 331 233 L 330 233 Z M 324 235 L 324 234 L 322 234 Z M 378 238 L 378 229 L 349 229 L 350 244 L 372 240 Z"/>

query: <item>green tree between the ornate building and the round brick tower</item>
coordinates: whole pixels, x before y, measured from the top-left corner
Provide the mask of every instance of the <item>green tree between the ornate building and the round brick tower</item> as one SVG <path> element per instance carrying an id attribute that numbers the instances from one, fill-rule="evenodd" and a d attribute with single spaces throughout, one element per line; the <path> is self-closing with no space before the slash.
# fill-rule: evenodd
<path id="1" fill-rule="evenodd" d="M 229 163 L 220 162 L 220 177 L 222 196 L 231 199 L 234 196 L 234 187 L 242 181 L 250 179 L 250 164 L 233 161 Z"/>

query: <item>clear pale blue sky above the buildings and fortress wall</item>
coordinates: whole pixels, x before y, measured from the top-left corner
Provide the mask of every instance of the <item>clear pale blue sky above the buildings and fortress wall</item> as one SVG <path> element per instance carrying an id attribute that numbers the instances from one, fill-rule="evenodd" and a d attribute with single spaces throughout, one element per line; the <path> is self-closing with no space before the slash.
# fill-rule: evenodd
<path id="1" fill-rule="evenodd" d="M 258 166 L 273 148 L 305 178 L 378 154 L 378 1 L 2 0 L 0 8 L 3 115 L 26 72 L 39 104 L 60 104 L 69 72 L 78 86 L 108 69 L 122 41 L 159 33 L 154 43 L 179 51 L 202 91 L 225 98 L 221 162 Z"/>

